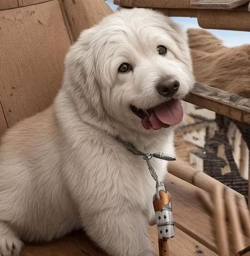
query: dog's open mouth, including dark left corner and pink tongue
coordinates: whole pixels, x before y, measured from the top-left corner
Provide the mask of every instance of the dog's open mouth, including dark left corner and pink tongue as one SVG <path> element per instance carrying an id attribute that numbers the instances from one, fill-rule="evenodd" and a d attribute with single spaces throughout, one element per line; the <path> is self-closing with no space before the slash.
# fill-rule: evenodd
<path id="1" fill-rule="evenodd" d="M 133 113 L 142 119 L 142 125 L 146 130 L 168 128 L 183 120 L 183 106 L 179 100 L 170 100 L 148 110 L 130 106 Z"/>

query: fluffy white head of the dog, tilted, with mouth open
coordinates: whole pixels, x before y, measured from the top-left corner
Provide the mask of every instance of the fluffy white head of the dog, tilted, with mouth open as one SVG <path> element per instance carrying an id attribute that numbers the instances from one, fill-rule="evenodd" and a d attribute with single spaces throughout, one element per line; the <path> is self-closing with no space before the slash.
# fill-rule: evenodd
<path id="1" fill-rule="evenodd" d="M 83 31 L 65 66 L 79 108 L 140 131 L 179 123 L 179 99 L 194 84 L 186 33 L 149 9 L 122 9 Z"/>

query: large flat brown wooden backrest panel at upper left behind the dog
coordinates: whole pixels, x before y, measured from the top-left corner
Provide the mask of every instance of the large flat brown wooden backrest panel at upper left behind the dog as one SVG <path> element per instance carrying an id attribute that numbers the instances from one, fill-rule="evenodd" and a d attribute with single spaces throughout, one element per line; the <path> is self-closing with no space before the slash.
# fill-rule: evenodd
<path id="1" fill-rule="evenodd" d="M 71 41 L 58 1 L 3 10 L 0 15 L 0 70 L 5 71 L 0 100 L 10 127 L 51 105 L 61 87 Z"/>

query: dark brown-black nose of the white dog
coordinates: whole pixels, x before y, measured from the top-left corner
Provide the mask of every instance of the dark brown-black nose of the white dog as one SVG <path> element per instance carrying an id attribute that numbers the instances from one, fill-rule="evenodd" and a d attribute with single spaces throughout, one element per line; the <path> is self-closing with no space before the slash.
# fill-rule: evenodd
<path id="1" fill-rule="evenodd" d="M 179 81 L 173 76 L 167 76 L 160 80 L 156 86 L 156 90 L 162 96 L 173 96 L 179 89 Z"/>

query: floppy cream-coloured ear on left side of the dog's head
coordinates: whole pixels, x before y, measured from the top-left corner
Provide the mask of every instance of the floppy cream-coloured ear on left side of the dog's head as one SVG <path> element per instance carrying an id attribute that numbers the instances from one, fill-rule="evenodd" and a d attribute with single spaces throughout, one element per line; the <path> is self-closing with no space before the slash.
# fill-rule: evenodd
<path id="1" fill-rule="evenodd" d="M 71 46 L 64 61 L 64 86 L 70 92 L 79 112 L 81 109 L 86 111 L 87 108 L 98 117 L 103 113 L 103 106 L 94 69 L 95 33 L 95 27 L 84 30 L 75 44 Z"/>

